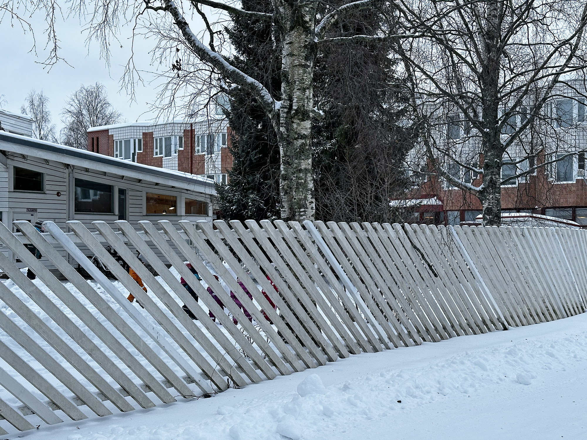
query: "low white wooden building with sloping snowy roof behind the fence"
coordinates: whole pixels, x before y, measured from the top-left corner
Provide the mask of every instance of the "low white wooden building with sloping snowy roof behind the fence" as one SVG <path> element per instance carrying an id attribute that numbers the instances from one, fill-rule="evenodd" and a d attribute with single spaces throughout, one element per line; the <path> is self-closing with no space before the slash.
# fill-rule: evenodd
<path id="1" fill-rule="evenodd" d="M 119 219 L 212 219 L 214 182 L 0 131 L 0 215 L 12 221 L 113 225 Z M 8 251 L 6 251 L 8 252 Z"/>

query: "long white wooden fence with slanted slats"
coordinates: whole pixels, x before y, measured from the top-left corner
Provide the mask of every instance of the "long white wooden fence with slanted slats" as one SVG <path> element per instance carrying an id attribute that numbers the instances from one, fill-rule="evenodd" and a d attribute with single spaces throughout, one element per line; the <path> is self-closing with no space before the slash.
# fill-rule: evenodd
<path id="1" fill-rule="evenodd" d="M 41 234 L 17 221 L 22 235 L 0 225 L 0 242 L 44 284 L 33 283 L 0 254 L 0 270 L 14 283 L 0 283 L 5 390 L 0 395 L 20 402 L 0 399 L 0 418 L 16 429 L 33 429 L 39 419 L 56 424 L 90 412 L 103 416 L 244 387 L 351 353 L 585 312 L 587 231 L 582 230 L 308 221 L 230 226 L 216 221 L 216 229 L 207 222 L 160 221 L 160 229 L 148 221 L 139 224 L 137 232 L 118 221 L 115 232 L 105 222 L 93 222 L 97 232 L 90 232 L 80 222 L 68 222 L 73 232 L 64 233 L 46 222 L 49 232 Z M 70 284 L 56 279 L 23 242 L 35 245 Z M 83 279 L 58 246 L 95 282 Z M 107 279 L 77 246 L 90 249 L 118 281 Z M 129 263 L 147 293 L 104 246 Z M 137 259 L 137 250 L 159 277 Z M 126 299 L 127 291 L 142 307 Z M 2 427 L 0 434 L 6 434 Z"/>

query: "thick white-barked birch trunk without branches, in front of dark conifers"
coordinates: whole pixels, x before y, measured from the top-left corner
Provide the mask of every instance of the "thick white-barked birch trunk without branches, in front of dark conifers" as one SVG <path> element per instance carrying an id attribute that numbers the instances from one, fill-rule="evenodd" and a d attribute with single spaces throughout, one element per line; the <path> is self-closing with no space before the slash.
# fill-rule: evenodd
<path id="1" fill-rule="evenodd" d="M 284 45 L 282 53 L 282 102 L 280 112 L 281 218 L 314 219 L 311 116 L 312 73 L 315 62 L 316 4 L 281 4 Z"/>

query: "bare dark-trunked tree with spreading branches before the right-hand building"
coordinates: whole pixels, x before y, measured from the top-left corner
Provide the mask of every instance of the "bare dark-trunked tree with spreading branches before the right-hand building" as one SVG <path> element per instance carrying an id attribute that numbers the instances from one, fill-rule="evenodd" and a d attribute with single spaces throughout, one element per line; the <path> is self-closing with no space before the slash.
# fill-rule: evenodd
<path id="1" fill-rule="evenodd" d="M 587 5 L 393 0 L 392 7 L 389 38 L 427 133 L 413 158 L 424 174 L 476 196 L 484 224 L 499 225 L 502 185 L 577 151 Z"/>

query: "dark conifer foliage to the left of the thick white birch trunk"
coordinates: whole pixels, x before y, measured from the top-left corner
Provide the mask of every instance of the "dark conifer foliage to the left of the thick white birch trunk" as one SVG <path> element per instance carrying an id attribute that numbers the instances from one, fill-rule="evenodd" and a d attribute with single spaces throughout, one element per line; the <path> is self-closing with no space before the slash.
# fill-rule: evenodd
<path id="1" fill-rule="evenodd" d="M 266 0 L 243 1 L 247 11 L 271 12 Z M 281 50 L 274 41 L 271 23 L 232 17 L 234 25 L 226 29 L 236 52 L 231 62 L 242 72 L 263 78 L 271 92 L 281 90 Z M 230 182 L 218 185 L 220 208 L 224 218 L 279 218 L 279 145 L 271 120 L 251 93 L 232 89 L 228 93 L 230 109 L 225 111 L 231 127 L 231 153 L 234 158 Z"/>

